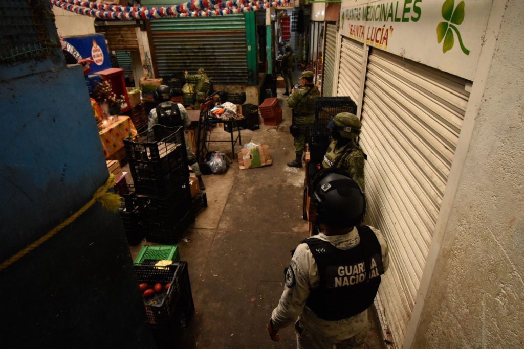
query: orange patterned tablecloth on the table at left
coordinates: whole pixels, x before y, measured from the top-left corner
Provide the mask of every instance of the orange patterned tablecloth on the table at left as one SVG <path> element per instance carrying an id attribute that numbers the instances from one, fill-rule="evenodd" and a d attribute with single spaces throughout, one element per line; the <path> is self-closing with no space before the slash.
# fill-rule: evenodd
<path id="1" fill-rule="evenodd" d="M 119 116 L 115 121 L 108 121 L 107 126 L 99 134 L 104 156 L 107 159 L 124 147 L 125 138 L 136 136 L 137 132 L 128 116 Z"/>

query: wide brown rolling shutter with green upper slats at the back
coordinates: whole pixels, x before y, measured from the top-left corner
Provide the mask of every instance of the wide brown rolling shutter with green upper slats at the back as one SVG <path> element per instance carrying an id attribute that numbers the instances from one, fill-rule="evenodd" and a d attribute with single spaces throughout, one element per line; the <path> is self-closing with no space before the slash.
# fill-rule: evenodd
<path id="1" fill-rule="evenodd" d="M 244 15 L 157 19 L 151 32 L 159 76 L 203 67 L 215 85 L 247 83 Z"/>

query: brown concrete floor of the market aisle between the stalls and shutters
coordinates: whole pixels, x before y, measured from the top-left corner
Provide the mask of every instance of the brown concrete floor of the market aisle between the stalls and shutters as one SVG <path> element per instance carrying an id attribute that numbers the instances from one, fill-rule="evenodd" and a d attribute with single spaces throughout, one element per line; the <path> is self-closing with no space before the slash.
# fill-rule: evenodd
<path id="1" fill-rule="evenodd" d="M 225 174 L 204 176 L 208 208 L 184 234 L 189 242 L 178 244 L 181 259 L 188 261 L 195 302 L 180 347 L 296 347 L 293 326 L 280 331 L 279 343 L 271 342 L 266 331 L 283 290 L 290 251 L 308 235 L 302 219 L 304 169 L 286 166 L 294 157 L 288 132 L 291 111 L 281 95 L 284 89 L 278 92 L 280 125 L 261 123 L 260 130 L 242 130 L 243 144 L 269 145 L 272 165 L 239 170 L 235 159 Z M 215 129 L 215 137 L 230 134 Z M 240 148 L 237 144 L 235 151 Z M 212 143 L 210 150 L 231 156 L 229 143 Z M 140 247 L 131 247 L 133 258 Z M 367 347 L 379 348 L 376 321 L 372 323 Z"/>

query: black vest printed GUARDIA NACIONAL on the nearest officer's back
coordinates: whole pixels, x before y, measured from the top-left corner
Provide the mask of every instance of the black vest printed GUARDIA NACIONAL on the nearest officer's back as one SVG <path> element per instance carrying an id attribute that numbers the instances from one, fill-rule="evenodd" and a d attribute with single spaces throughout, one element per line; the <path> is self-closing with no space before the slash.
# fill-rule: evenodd
<path id="1" fill-rule="evenodd" d="M 331 243 L 309 238 L 307 243 L 319 269 L 320 285 L 311 289 L 306 305 L 321 319 L 350 318 L 369 308 L 384 274 L 380 244 L 366 226 L 357 228 L 360 243 L 340 250 Z"/>

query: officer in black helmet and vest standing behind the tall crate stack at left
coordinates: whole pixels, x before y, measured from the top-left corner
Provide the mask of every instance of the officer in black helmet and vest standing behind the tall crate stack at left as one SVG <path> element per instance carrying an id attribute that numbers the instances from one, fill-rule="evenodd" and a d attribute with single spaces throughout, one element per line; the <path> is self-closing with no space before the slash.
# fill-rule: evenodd
<path id="1" fill-rule="evenodd" d="M 180 103 L 171 102 L 173 97 L 172 89 L 166 85 L 160 85 L 157 87 L 154 93 L 155 101 L 160 102 L 156 108 L 151 109 L 149 112 L 148 128 L 153 127 L 159 123 L 163 126 L 177 127 L 183 126 L 184 128 L 191 125 L 191 118 L 184 106 Z M 200 172 L 200 166 L 196 162 L 196 156 L 191 149 L 188 138 L 184 132 L 185 149 L 188 153 L 188 164 L 198 178 L 198 183 L 201 190 L 205 190 L 204 181 L 202 180 L 202 172 Z"/>

